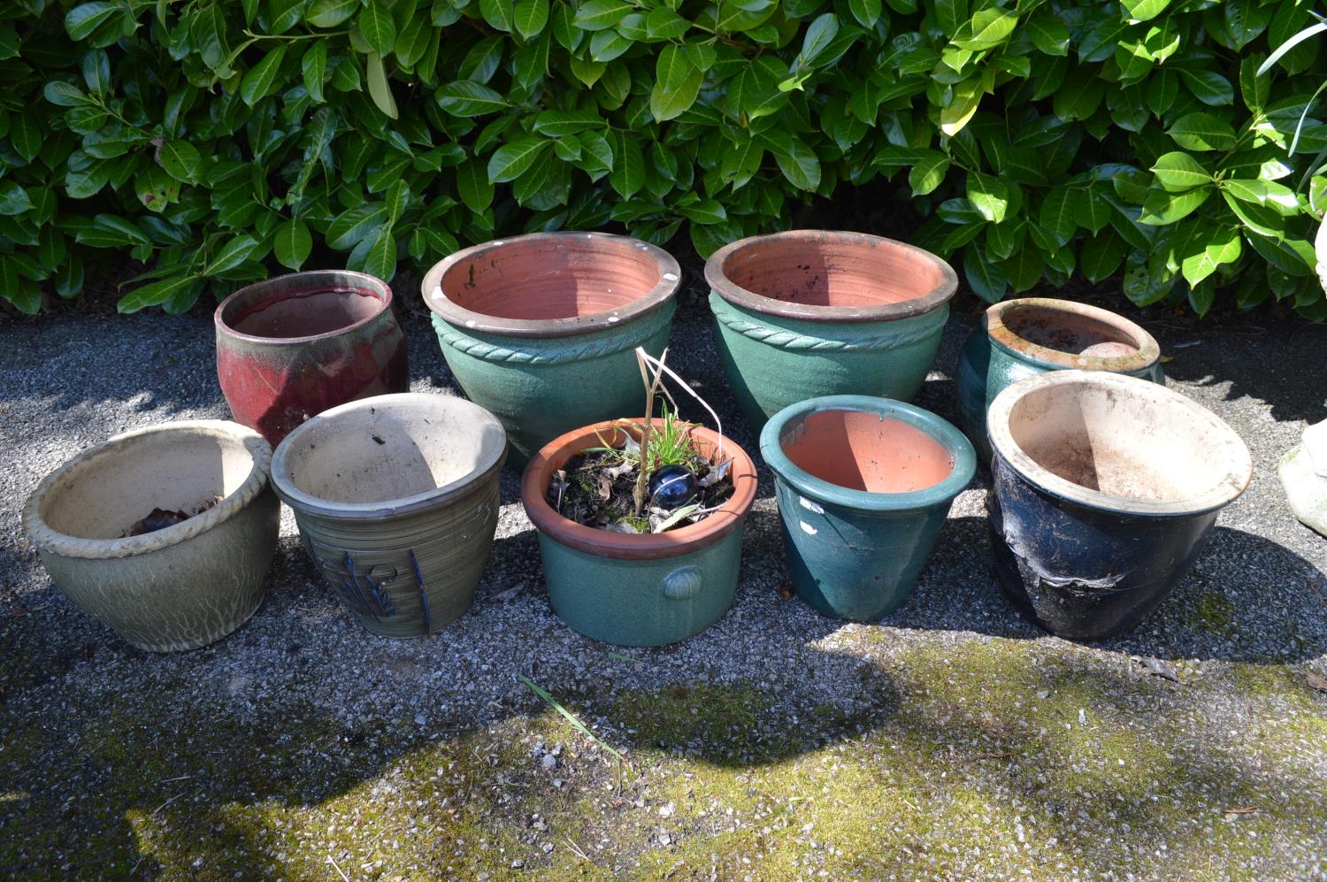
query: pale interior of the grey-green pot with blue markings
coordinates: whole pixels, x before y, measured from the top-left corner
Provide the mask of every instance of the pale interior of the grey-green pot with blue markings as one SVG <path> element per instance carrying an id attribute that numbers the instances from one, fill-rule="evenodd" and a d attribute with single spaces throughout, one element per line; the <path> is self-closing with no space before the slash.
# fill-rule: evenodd
<path id="1" fill-rule="evenodd" d="M 296 488 L 334 503 L 384 503 L 475 473 L 507 443 L 468 402 L 364 405 L 307 426 L 285 454 Z"/>

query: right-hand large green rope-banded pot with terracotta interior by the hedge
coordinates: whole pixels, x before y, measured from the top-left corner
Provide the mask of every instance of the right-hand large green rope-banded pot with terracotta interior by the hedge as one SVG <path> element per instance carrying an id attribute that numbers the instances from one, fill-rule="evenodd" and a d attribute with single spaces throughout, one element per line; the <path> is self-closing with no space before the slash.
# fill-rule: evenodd
<path id="1" fill-rule="evenodd" d="M 819 229 L 725 245 L 705 279 L 719 359 L 754 430 L 809 398 L 910 401 L 958 286 L 949 264 L 921 248 Z"/>

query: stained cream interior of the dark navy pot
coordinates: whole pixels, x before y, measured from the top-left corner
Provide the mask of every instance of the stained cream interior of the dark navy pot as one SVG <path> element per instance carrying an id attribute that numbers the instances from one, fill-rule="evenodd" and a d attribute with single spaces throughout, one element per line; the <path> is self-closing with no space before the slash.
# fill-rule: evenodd
<path id="1" fill-rule="evenodd" d="M 1014 443 L 1042 468 L 1087 489 L 1140 501 L 1182 501 L 1237 471 L 1234 432 L 1162 387 L 1046 386 L 1010 410 Z"/>

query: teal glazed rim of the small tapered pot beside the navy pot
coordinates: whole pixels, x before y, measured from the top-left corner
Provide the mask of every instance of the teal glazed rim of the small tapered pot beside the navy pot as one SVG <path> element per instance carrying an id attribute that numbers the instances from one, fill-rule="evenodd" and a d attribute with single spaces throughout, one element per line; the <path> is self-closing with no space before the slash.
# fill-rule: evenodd
<path id="1" fill-rule="evenodd" d="M 928 438 L 943 447 L 945 452 L 953 459 L 949 476 L 930 487 L 898 493 L 853 489 L 852 487 L 843 487 L 841 484 L 816 477 L 788 458 L 783 451 L 780 435 L 788 423 L 827 411 L 852 411 L 893 418 L 925 432 Z M 847 508 L 872 512 L 906 511 L 941 503 L 947 504 L 963 492 L 977 475 L 977 451 L 973 450 L 973 444 L 967 440 L 967 436 L 958 431 L 949 420 L 916 405 L 872 395 L 825 395 L 788 405 L 771 416 L 764 428 L 760 430 L 760 458 L 764 459 L 764 464 L 775 475 L 791 484 L 803 496 L 809 496 L 832 505 L 844 505 Z"/>

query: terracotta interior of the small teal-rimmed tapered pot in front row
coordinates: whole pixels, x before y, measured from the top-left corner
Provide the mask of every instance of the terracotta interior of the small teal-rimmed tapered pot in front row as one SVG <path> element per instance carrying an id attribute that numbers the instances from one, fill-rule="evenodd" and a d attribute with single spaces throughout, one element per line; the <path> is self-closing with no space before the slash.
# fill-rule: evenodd
<path id="1" fill-rule="evenodd" d="M 784 427 L 779 444 L 802 471 L 872 493 L 934 487 L 954 471 L 943 444 L 893 416 L 820 410 Z"/>

